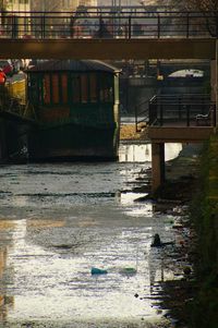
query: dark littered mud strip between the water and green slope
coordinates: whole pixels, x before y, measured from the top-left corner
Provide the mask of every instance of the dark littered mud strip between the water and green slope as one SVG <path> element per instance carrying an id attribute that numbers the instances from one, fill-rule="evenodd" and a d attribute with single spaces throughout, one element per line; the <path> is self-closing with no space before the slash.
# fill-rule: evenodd
<path id="1" fill-rule="evenodd" d="M 178 243 L 171 251 L 166 247 L 165 253 L 171 257 L 171 266 L 180 265 L 174 271 L 175 278 L 161 283 L 162 293 L 158 302 L 167 311 L 165 316 L 170 318 L 173 327 L 180 328 L 195 327 L 192 308 L 198 291 L 195 269 L 198 242 L 191 208 L 199 185 L 202 148 L 203 145 L 184 146 L 179 157 L 166 163 L 165 184 L 155 194 L 140 199 L 152 198 L 156 211 L 172 216 Z"/>

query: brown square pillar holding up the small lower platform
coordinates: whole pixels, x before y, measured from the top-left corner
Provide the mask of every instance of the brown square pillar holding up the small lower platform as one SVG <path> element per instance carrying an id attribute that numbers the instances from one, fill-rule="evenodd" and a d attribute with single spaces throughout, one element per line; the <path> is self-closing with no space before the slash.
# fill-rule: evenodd
<path id="1" fill-rule="evenodd" d="M 165 182 L 165 144 L 152 143 L 152 192 Z"/>

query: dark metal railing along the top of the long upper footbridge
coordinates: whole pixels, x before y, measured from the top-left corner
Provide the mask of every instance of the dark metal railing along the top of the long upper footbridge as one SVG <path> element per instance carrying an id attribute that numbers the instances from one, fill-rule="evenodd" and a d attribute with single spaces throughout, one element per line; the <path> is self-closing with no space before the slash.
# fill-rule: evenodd
<path id="1" fill-rule="evenodd" d="M 217 36 L 211 12 L 4 12 L 0 38 L 168 38 Z"/>

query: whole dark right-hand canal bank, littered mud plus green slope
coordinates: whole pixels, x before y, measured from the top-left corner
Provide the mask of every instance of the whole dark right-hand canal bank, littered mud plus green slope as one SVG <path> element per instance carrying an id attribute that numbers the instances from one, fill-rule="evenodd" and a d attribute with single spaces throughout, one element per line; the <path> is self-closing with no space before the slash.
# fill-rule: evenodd
<path id="1" fill-rule="evenodd" d="M 166 163 L 166 182 L 153 194 L 157 210 L 182 215 L 173 227 L 183 235 L 174 259 L 183 263 L 184 277 L 162 283 L 161 304 L 174 327 L 217 328 L 217 135 L 204 145 L 185 146 Z"/>

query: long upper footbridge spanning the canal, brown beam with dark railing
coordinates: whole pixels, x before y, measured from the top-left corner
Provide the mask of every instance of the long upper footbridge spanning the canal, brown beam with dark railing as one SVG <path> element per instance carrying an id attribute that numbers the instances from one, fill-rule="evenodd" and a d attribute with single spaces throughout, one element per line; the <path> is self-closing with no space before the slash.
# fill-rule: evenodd
<path id="1" fill-rule="evenodd" d="M 0 58 L 215 59 L 213 13 L 145 11 L 4 12 Z"/>

